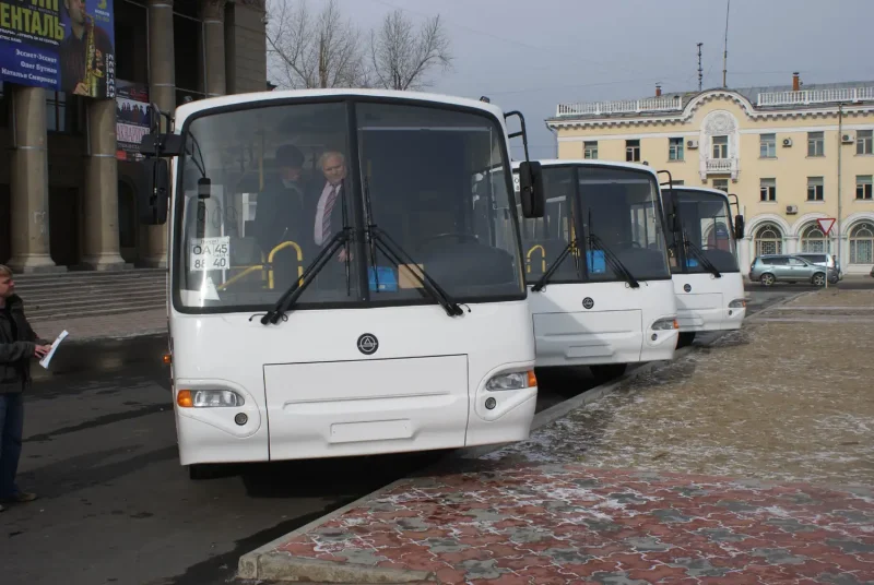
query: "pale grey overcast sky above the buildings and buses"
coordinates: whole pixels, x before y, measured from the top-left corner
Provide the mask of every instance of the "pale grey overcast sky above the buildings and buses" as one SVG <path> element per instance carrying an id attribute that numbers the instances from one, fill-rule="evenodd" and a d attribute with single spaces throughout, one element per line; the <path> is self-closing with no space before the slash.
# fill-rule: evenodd
<path id="1" fill-rule="evenodd" d="M 294 0 L 287 0 L 294 1 Z M 308 0 L 311 8 L 322 0 Z M 487 95 L 525 116 L 532 157 L 555 155 L 543 120 L 559 103 L 628 99 L 722 84 L 727 0 L 340 0 L 367 29 L 403 9 L 416 22 L 439 12 L 452 70 L 430 91 Z M 867 49 L 874 0 L 731 0 L 729 86 L 874 80 Z M 874 83 L 872 84 L 874 85 Z M 513 123 L 513 122 L 511 122 Z M 513 142 L 520 142 L 518 139 Z M 520 157 L 521 145 L 513 145 Z"/>

